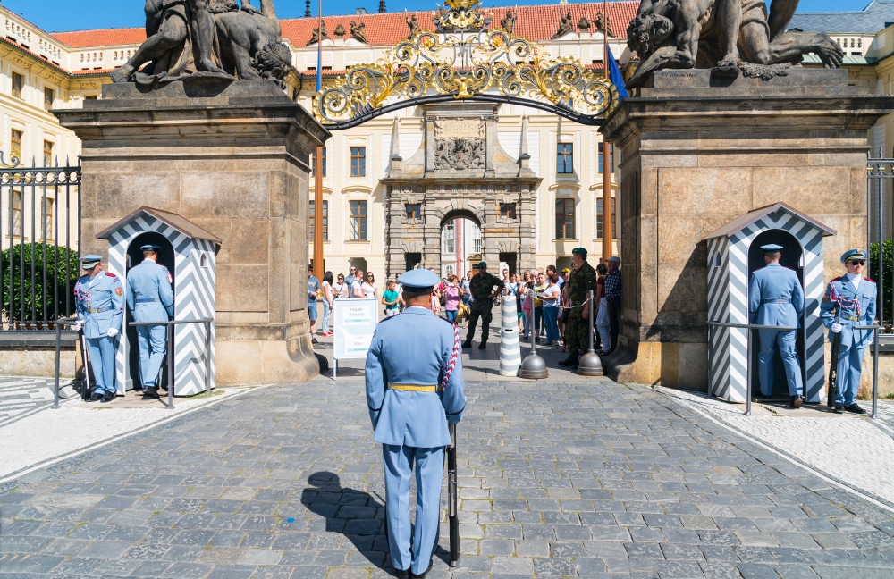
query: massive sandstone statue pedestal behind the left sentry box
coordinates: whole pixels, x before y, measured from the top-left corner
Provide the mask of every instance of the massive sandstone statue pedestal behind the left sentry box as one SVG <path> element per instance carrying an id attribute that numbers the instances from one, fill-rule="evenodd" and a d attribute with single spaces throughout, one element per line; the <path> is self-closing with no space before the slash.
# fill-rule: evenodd
<path id="1" fill-rule="evenodd" d="M 307 111 L 272 82 L 205 77 L 146 92 L 106 85 L 102 100 L 55 114 L 83 141 L 81 254 L 105 255 L 97 232 L 141 206 L 180 214 L 223 239 L 218 383 L 319 373 L 308 321 L 308 174 L 329 133 Z"/>

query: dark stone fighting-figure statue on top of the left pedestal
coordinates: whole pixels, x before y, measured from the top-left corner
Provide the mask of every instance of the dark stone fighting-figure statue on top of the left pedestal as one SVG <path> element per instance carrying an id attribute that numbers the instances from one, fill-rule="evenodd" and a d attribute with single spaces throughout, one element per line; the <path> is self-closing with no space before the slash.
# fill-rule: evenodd
<path id="1" fill-rule="evenodd" d="M 114 82 L 153 85 L 229 75 L 283 85 L 291 53 L 274 0 L 261 0 L 260 10 L 251 0 L 241 0 L 241 10 L 235 0 L 146 0 L 144 9 L 146 41 L 112 72 Z"/>

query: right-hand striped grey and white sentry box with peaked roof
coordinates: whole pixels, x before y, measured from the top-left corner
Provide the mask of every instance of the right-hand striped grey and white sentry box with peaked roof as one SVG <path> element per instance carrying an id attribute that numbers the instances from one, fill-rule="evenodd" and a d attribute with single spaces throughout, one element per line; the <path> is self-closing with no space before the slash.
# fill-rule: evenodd
<path id="1" fill-rule="evenodd" d="M 755 209 L 704 237 L 708 244 L 708 320 L 748 323 L 748 281 L 764 266 L 761 246 L 782 246 L 780 264 L 795 270 L 804 287 L 805 308 L 797 333 L 798 359 L 804 377 L 805 400 L 820 402 L 825 384 L 822 300 L 822 238 L 835 231 L 784 203 Z M 754 330 L 753 330 L 754 331 Z M 708 326 L 709 393 L 730 402 L 746 401 L 748 334 L 741 328 Z M 760 391 L 757 377 L 759 341 L 754 331 L 750 363 L 752 393 Z M 779 353 L 773 395 L 788 398 Z"/>

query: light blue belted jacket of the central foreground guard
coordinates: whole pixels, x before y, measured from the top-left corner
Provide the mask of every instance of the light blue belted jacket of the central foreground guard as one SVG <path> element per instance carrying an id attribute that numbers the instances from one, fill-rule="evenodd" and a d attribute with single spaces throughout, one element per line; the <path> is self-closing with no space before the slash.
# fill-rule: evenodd
<path id="1" fill-rule="evenodd" d="M 390 390 L 388 385 L 441 384 L 453 345 L 453 324 L 424 307 L 408 307 L 376 326 L 366 364 L 376 442 L 423 449 L 450 444 L 447 421 L 459 423 L 466 407 L 461 348 L 443 392 Z"/>

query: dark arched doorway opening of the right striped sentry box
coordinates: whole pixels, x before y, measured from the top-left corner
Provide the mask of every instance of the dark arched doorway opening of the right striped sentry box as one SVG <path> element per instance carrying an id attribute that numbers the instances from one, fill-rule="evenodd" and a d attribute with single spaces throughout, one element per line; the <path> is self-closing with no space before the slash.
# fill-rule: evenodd
<path id="1" fill-rule="evenodd" d="M 804 290 L 804 259 L 802 256 L 803 250 L 801 248 L 801 244 L 797 241 L 797 239 L 795 239 L 795 236 L 791 235 L 788 231 L 763 231 L 763 233 L 758 235 L 755 240 L 751 242 L 751 248 L 748 249 L 748 279 L 751 279 L 751 273 L 765 266 L 761 246 L 767 245 L 768 243 L 775 243 L 782 246 L 782 250 L 780 251 L 780 253 L 782 254 L 782 257 L 780 258 L 780 265 L 782 265 L 783 267 L 788 267 L 789 269 L 794 270 L 795 273 L 797 273 L 797 279 L 801 283 L 801 289 Z M 806 383 L 803 319 L 801 320 L 800 326 L 801 327 L 797 329 L 796 333 L 797 358 L 798 365 L 800 365 L 801 368 L 801 380 L 803 383 Z M 761 341 L 758 337 L 757 330 L 752 330 L 751 340 L 751 367 L 755 369 L 755 372 L 752 373 L 751 391 L 757 393 L 761 391 L 760 376 L 757 372 L 757 367 L 759 364 L 758 355 L 761 349 Z M 780 357 L 778 348 L 774 351 L 773 354 L 773 389 L 771 392 L 771 396 L 774 398 L 779 397 L 782 399 L 786 399 L 789 397 L 789 382 L 786 379 L 785 366 L 782 365 L 782 357 Z"/>

